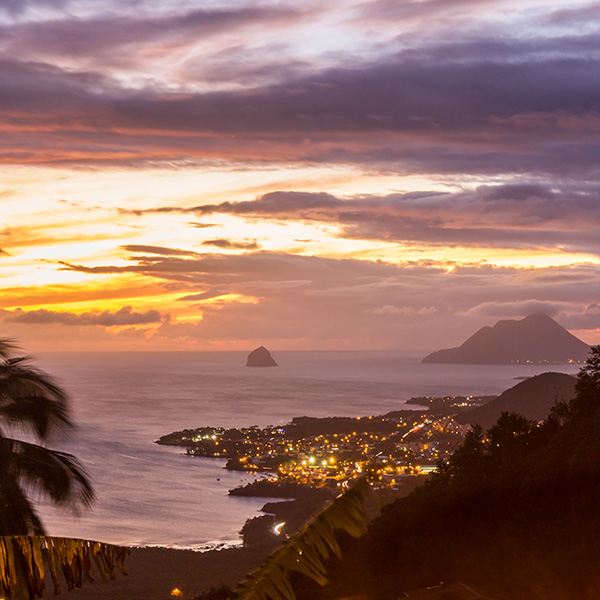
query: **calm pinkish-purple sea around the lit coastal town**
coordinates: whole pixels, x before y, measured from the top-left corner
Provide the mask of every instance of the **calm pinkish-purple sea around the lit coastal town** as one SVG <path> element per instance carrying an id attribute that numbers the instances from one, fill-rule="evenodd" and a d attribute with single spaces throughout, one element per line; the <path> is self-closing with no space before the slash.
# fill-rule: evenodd
<path id="1" fill-rule="evenodd" d="M 230 497 L 252 475 L 225 461 L 154 443 L 200 426 L 266 426 L 295 416 L 363 416 L 413 396 L 499 394 L 517 378 L 576 365 L 432 365 L 425 353 L 274 352 L 273 368 L 246 352 L 53 353 L 35 365 L 68 391 L 76 430 L 52 444 L 77 456 L 97 499 L 79 516 L 37 500 L 49 535 L 130 546 L 204 549 L 240 542 L 262 498 Z"/>

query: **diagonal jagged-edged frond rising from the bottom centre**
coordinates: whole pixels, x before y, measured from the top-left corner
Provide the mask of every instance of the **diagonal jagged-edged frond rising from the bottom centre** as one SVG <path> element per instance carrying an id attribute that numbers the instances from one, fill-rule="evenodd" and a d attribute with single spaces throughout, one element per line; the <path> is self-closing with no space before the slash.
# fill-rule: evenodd
<path id="1" fill-rule="evenodd" d="M 325 561 L 332 555 L 340 555 L 336 530 L 353 537 L 360 537 L 366 530 L 363 503 L 368 491 L 369 484 L 363 477 L 333 500 L 299 533 L 270 554 L 257 571 L 246 577 L 236 589 L 238 600 L 296 600 L 289 579 L 292 572 L 326 585 Z"/>

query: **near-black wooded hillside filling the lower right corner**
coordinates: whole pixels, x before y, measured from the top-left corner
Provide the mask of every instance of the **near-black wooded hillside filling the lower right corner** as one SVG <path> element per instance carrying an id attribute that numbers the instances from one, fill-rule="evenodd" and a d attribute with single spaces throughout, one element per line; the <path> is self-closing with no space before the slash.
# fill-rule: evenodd
<path id="1" fill-rule="evenodd" d="M 600 346 L 576 396 L 541 424 L 503 413 L 474 427 L 423 486 L 397 500 L 344 558 L 331 584 L 300 598 L 403 591 L 462 581 L 512 600 L 600 597 Z"/>

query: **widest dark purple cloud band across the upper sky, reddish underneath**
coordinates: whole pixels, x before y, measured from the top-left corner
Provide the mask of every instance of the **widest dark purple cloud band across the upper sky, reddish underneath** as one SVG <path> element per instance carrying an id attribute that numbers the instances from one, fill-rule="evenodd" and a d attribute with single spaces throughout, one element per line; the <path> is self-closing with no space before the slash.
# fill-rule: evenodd
<path id="1" fill-rule="evenodd" d="M 592 176 L 600 154 L 600 61 L 592 56 L 599 49 L 597 35 L 475 39 L 204 94 L 126 90 L 94 73 L 5 59 L 0 153 L 25 163 L 228 159 Z"/>

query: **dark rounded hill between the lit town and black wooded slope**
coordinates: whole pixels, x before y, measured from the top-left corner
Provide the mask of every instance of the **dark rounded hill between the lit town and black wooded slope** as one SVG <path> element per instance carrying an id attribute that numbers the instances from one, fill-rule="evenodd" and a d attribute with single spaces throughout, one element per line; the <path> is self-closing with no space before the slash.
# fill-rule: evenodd
<path id="1" fill-rule="evenodd" d="M 527 419 L 541 421 L 557 402 L 575 397 L 577 378 L 565 373 L 542 373 L 502 392 L 484 406 L 468 410 L 455 418 L 459 423 L 481 425 L 489 429 L 504 411 L 516 412 Z"/>

